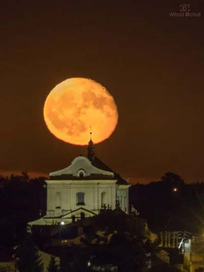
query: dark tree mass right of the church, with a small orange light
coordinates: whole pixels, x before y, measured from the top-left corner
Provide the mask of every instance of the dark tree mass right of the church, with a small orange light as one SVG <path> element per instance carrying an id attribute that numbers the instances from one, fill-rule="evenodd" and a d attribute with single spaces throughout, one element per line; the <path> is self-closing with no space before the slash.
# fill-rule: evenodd
<path id="1" fill-rule="evenodd" d="M 180 176 L 168 172 L 160 181 L 132 186 L 130 202 L 154 232 L 202 230 L 204 183 L 186 184 Z"/>

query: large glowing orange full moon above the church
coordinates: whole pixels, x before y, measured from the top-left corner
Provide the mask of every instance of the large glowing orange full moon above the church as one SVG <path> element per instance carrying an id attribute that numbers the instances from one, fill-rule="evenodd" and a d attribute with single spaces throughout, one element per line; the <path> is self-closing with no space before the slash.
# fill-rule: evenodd
<path id="1" fill-rule="evenodd" d="M 44 109 L 48 130 L 60 140 L 87 145 L 109 138 L 118 122 L 113 96 L 99 83 L 71 78 L 58 84 L 48 94 Z"/>

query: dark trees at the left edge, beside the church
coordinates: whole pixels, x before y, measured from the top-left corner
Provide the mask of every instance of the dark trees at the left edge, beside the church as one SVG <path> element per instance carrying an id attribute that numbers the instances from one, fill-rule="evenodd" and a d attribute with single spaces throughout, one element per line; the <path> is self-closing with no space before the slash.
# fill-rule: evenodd
<path id="1" fill-rule="evenodd" d="M 27 172 L 20 176 L 0 176 L 0 242 L 13 244 L 24 235 L 28 221 L 46 211 L 46 183 L 43 177 L 30 179 Z"/>

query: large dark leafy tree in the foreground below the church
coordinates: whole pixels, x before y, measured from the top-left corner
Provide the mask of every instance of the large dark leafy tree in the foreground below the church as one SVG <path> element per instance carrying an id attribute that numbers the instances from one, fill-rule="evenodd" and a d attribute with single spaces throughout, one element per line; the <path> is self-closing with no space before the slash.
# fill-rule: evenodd
<path id="1" fill-rule="evenodd" d="M 129 224 L 125 217 L 131 220 Z M 151 251 L 151 243 L 144 243 L 144 237 L 138 229 L 131 228 L 130 223 L 133 219 L 121 213 L 115 216 L 114 213 L 110 216 L 101 215 L 97 218 L 94 226 L 97 226 L 100 232 L 98 234 L 93 228 L 92 232 L 81 239 L 88 246 L 89 252 L 86 252 L 83 258 L 81 256 L 83 261 L 80 263 L 84 263 L 85 266 L 90 260 L 91 264 L 97 267 L 109 264 L 117 266 L 119 272 L 142 271 L 146 266 L 146 253 Z"/>

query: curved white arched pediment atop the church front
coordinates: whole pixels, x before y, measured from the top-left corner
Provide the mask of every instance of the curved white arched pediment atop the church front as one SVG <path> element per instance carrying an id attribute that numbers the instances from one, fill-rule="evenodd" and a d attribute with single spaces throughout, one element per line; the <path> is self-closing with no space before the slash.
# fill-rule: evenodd
<path id="1" fill-rule="evenodd" d="M 73 177 L 79 177 L 80 172 L 83 172 L 84 176 L 90 176 L 91 174 L 98 174 L 98 175 L 106 175 L 110 177 L 114 177 L 113 172 L 101 170 L 91 164 L 91 161 L 87 159 L 86 157 L 79 156 L 75 158 L 71 165 L 68 167 L 52 172 L 49 174 L 49 176 L 60 176 L 60 175 L 72 175 Z"/>

